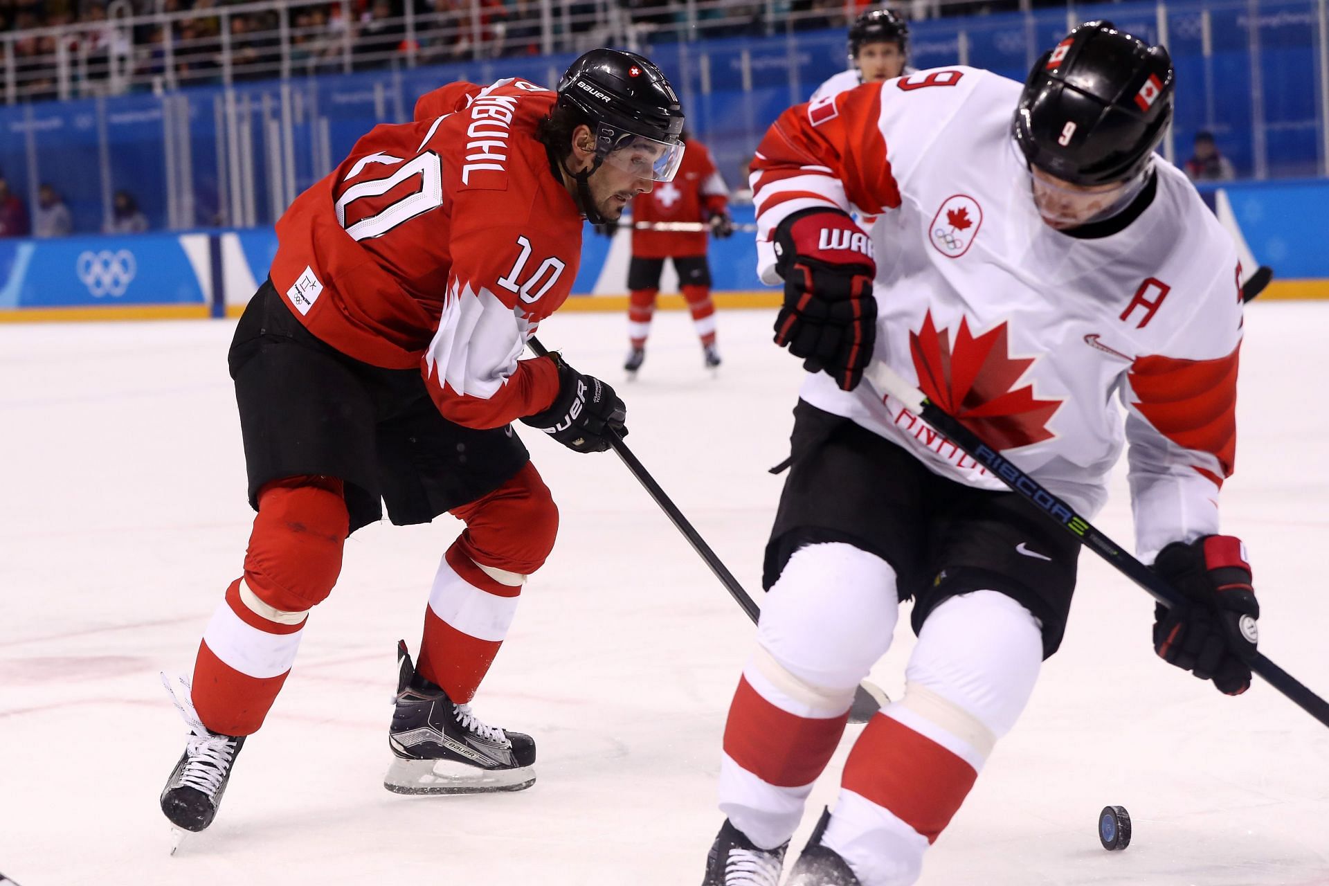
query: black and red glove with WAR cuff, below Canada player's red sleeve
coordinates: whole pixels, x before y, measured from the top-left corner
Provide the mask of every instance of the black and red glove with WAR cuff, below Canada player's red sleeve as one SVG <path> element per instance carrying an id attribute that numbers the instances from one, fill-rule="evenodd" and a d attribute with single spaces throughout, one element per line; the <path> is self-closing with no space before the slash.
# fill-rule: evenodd
<path id="1" fill-rule="evenodd" d="M 775 343 L 803 357 L 808 372 L 825 372 L 845 391 L 863 380 L 877 337 L 872 242 L 839 210 L 803 210 L 775 228 L 776 271 L 784 307 Z"/>

